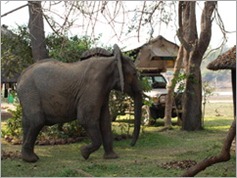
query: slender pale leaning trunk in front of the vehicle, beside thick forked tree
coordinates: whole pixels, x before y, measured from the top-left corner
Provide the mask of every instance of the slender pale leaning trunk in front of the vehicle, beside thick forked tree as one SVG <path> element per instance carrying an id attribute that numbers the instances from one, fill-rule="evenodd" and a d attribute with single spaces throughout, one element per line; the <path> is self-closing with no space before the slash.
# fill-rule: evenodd
<path id="1" fill-rule="evenodd" d="M 165 127 L 171 127 L 171 114 L 172 114 L 172 103 L 173 103 L 173 98 L 174 98 L 174 88 L 177 83 L 177 77 L 180 72 L 180 68 L 182 66 L 182 61 L 183 61 L 183 46 L 181 45 L 179 47 L 178 55 L 176 58 L 175 66 L 174 66 L 174 74 L 173 78 L 171 80 L 170 85 L 168 86 L 168 94 L 166 98 L 166 103 L 165 103 Z"/>

